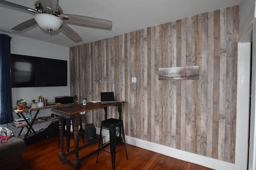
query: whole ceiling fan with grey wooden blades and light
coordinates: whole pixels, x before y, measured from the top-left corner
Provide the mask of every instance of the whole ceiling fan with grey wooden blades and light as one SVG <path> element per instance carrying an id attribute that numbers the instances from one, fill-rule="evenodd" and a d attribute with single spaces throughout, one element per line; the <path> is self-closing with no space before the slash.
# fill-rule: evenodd
<path id="1" fill-rule="evenodd" d="M 64 35 L 78 43 L 82 41 L 82 38 L 67 24 L 96 29 L 112 29 L 112 21 L 86 16 L 63 14 L 61 7 L 58 5 L 58 0 L 37 0 L 34 3 L 35 9 L 5 0 L 0 0 L 0 4 L 14 10 L 34 15 L 34 18 L 13 27 L 12 30 L 15 31 L 23 31 L 24 29 L 38 24 L 39 27 L 49 32 L 60 29 Z"/>

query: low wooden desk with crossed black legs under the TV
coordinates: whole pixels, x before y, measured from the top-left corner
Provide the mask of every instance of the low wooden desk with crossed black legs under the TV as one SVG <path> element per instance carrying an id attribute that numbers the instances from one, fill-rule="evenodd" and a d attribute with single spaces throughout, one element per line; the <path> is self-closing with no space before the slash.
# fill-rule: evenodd
<path id="1" fill-rule="evenodd" d="M 22 128 L 21 130 L 20 130 L 20 133 L 19 133 L 19 135 L 18 136 L 20 136 L 20 134 L 21 134 L 21 132 L 22 132 L 22 130 L 24 129 L 24 127 L 26 127 L 27 129 L 28 129 L 28 132 L 26 133 L 26 135 L 25 135 L 25 137 L 24 137 L 24 140 L 26 140 L 26 138 L 28 137 L 28 133 L 30 133 L 31 131 L 33 131 L 34 132 L 34 134 L 36 134 L 36 131 L 34 131 L 34 129 L 33 129 L 33 125 L 35 125 L 35 124 L 38 124 L 38 123 L 42 123 L 42 122 L 45 122 L 45 121 L 38 121 L 37 119 L 36 119 L 36 117 L 37 117 L 37 115 L 38 115 L 38 113 L 39 113 L 39 111 L 40 110 L 42 110 L 42 109 L 52 109 L 52 108 L 56 108 L 56 107 L 62 107 L 62 106 L 64 106 L 64 105 L 68 105 L 68 104 L 60 104 L 60 105 L 54 105 L 54 106 L 45 106 L 45 107 L 37 107 L 37 108 L 30 108 L 30 109 L 23 109 L 23 110 L 18 110 L 18 109 L 12 109 L 12 111 L 13 112 L 15 112 L 17 115 L 18 115 L 18 117 L 22 117 L 23 119 L 25 119 L 25 121 L 26 121 L 26 123 L 27 124 L 24 124 L 24 125 L 16 125 L 16 124 L 12 124 L 14 127 L 16 127 L 16 128 Z M 32 121 L 31 122 L 29 122 L 27 119 L 26 119 L 26 117 L 25 117 L 25 115 L 23 114 L 23 113 L 26 113 L 26 112 L 32 112 L 32 111 L 36 111 L 36 114 L 34 115 L 34 117 L 32 118 Z"/>

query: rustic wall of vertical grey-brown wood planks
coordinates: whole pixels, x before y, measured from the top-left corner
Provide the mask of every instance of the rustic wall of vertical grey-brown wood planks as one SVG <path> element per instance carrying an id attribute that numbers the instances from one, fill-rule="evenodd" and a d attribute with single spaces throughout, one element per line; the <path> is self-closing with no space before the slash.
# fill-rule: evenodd
<path id="1" fill-rule="evenodd" d="M 126 135 L 234 163 L 238 29 L 234 6 L 71 47 L 71 95 L 98 100 L 113 91 L 99 80 L 114 81 Z M 158 68 L 196 65 L 198 80 L 158 80 Z"/>

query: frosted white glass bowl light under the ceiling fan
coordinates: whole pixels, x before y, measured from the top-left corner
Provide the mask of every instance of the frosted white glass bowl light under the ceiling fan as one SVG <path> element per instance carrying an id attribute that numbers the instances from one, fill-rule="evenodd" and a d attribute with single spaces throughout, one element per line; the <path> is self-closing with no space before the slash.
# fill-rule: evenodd
<path id="1" fill-rule="evenodd" d="M 60 18 L 52 14 L 36 14 L 34 20 L 36 20 L 39 27 L 49 32 L 60 29 L 63 24 L 63 21 Z"/>

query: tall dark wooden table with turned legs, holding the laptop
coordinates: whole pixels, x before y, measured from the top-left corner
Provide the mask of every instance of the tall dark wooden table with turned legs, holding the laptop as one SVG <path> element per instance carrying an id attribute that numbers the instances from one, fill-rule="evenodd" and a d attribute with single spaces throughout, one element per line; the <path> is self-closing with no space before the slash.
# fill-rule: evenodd
<path id="1" fill-rule="evenodd" d="M 96 143 L 98 139 L 86 143 L 85 145 L 79 147 L 78 145 L 78 125 L 80 125 L 80 112 L 83 111 L 90 111 L 94 109 L 104 108 L 105 110 L 105 119 L 107 119 L 107 108 L 110 106 L 118 106 L 118 113 L 119 113 L 119 119 L 122 119 L 122 104 L 124 102 L 116 102 L 112 104 L 101 104 L 101 103 L 87 103 L 86 105 L 82 104 L 76 104 L 73 105 L 73 107 L 60 107 L 60 108 L 54 108 L 52 109 L 52 112 L 56 115 L 58 115 L 58 121 L 60 124 L 60 153 L 58 154 L 58 157 L 60 159 L 60 163 L 64 164 L 65 162 L 69 164 L 70 166 L 74 167 L 74 170 L 79 170 L 81 168 L 81 161 L 87 159 L 88 157 L 92 156 L 93 154 L 97 153 L 97 149 L 90 152 L 89 154 L 79 158 L 78 152 L 81 149 L 84 149 L 85 147 L 88 147 L 92 145 L 93 143 Z M 74 142 L 75 142 L 75 149 L 65 153 L 63 149 L 63 137 L 64 137 L 64 119 L 72 119 L 72 125 L 74 130 Z M 120 135 L 121 137 L 121 135 Z M 122 138 L 122 137 L 121 137 Z M 75 153 L 75 161 L 72 162 L 71 160 L 67 159 L 66 157 Z"/>

